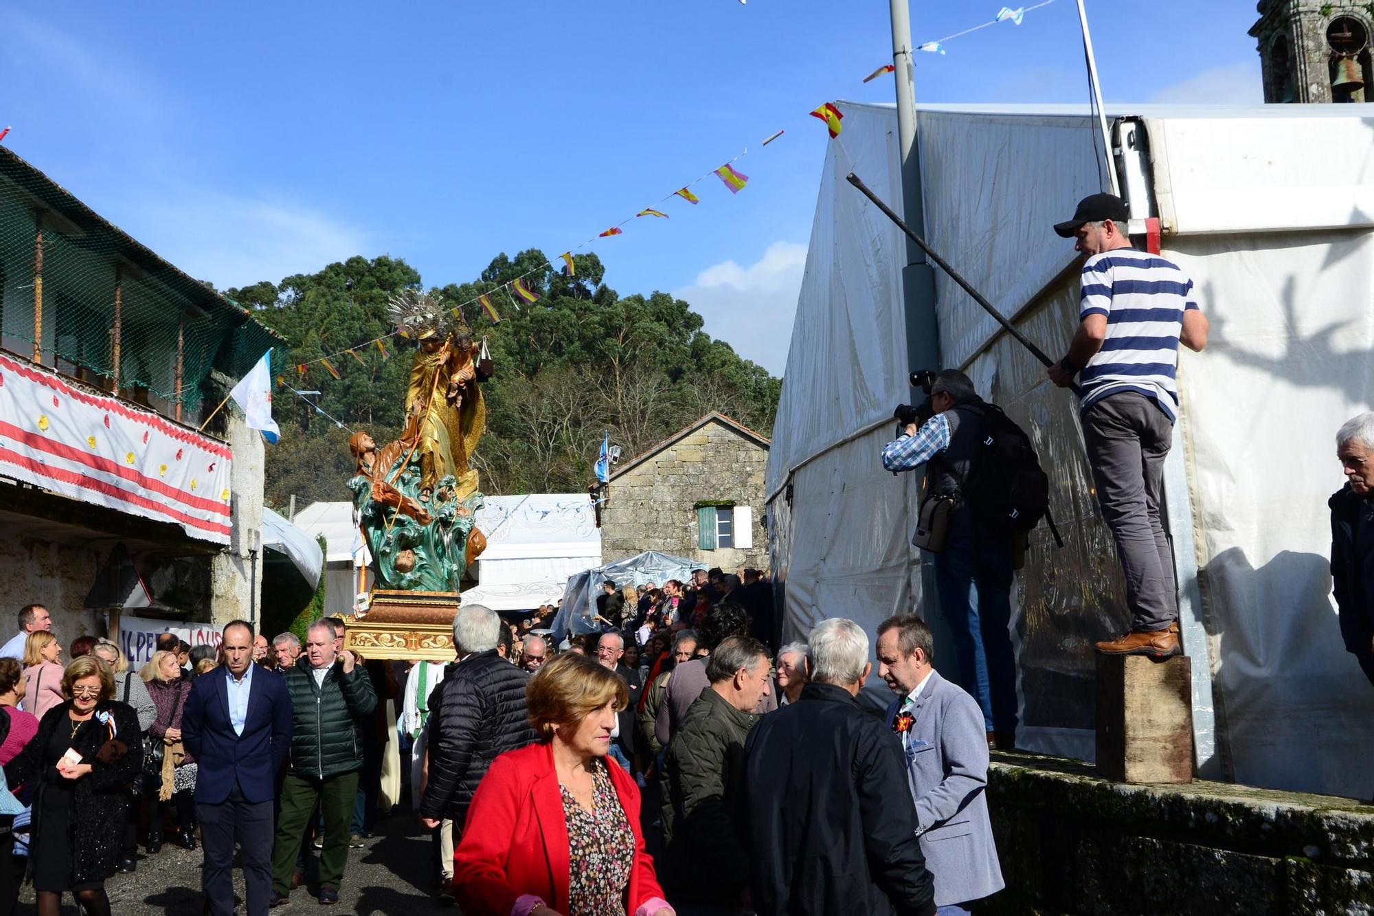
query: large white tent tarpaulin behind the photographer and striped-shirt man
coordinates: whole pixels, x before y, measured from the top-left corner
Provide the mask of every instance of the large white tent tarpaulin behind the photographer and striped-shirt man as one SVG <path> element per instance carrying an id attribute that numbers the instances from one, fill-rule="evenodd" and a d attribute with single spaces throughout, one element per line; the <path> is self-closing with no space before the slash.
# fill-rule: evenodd
<path id="1" fill-rule="evenodd" d="M 897 205 L 896 110 L 840 107 L 768 465 L 787 637 L 840 608 L 870 631 L 912 602 L 940 618 L 918 600 L 907 547 L 915 475 L 885 473 L 878 455 L 908 397 L 904 242 L 844 180 L 853 171 Z M 1360 796 L 1374 689 L 1341 648 L 1326 499 L 1341 486 L 1334 432 L 1374 402 L 1366 107 L 1109 113 L 1146 144 L 1143 180 L 1125 183 L 1132 215 L 1173 230 L 1162 253 L 1212 319 L 1208 349 L 1180 358 L 1165 473 L 1200 769 Z M 1101 187 L 1092 136 L 1081 107 L 918 111 L 927 241 L 1051 355 L 1073 334 L 1079 298 L 1072 242 L 1051 224 Z M 938 272 L 937 319 L 943 364 L 1032 436 L 1068 542 L 1059 550 L 1036 531 L 1017 578 L 1018 744 L 1091 758 L 1091 644 L 1128 613 L 1076 404 Z"/>

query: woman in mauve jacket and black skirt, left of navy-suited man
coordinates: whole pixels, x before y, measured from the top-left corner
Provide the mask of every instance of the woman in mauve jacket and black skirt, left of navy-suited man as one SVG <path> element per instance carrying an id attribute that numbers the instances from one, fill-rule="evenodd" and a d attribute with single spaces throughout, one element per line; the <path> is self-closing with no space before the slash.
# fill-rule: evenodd
<path id="1" fill-rule="evenodd" d="M 185 697 L 191 693 L 191 678 L 181 677 L 181 666 L 174 652 L 154 652 L 153 679 L 148 681 L 148 696 L 158 715 L 148 726 L 148 737 L 161 747 L 162 780 L 154 778 L 148 788 L 148 844 L 151 855 L 162 849 L 162 805 L 170 800 L 176 805 L 180 836 L 177 844 L 195 849 L 195 809 L 191 796 L 195 792 L 195 761 L 181 745 L 181 712 Z"/>

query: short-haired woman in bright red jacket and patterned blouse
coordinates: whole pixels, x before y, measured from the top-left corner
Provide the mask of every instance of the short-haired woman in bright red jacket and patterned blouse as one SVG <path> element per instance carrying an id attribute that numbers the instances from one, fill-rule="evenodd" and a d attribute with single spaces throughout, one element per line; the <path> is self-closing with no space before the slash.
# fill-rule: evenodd
<path id="1" fill-rule="evenodd" d="M 544 740 L 492 762 L 453 855 L 467 916 L 672 916 L 639 831 L 639 788 L 609 761 L 625 682 L 561 655 L 526 688 Z M 576 864 L 576 868 L 573 866 Z"/>

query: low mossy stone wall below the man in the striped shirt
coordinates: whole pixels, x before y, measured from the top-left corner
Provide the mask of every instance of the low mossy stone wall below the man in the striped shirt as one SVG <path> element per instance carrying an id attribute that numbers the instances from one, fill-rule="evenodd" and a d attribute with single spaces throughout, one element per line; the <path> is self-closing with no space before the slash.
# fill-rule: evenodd
<path id="1" fill-rule="evenodd" d="M 1007 888 L 978 913 L 1374 915 L 1371 805 L 1000 752 L 988 803 Z"/>

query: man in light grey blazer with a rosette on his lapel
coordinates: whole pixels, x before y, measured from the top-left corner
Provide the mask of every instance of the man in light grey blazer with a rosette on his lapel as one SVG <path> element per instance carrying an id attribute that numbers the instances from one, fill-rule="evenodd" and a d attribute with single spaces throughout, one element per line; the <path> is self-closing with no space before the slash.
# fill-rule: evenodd
<path id="1" fill-rule="evenodd" d="M 932 667 L 930 627 L 912 615 L 878 624 L 878 675 L 897 695 L 888 722 L 901 739 L 921 851 L 937 916 L 1003 888 L 988 820 L 988 734 L 977 700 Z"/>

